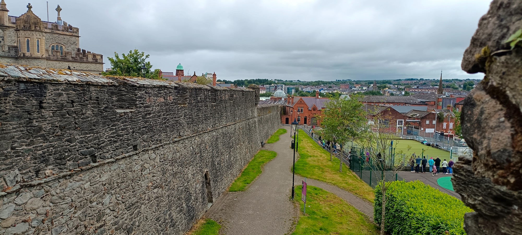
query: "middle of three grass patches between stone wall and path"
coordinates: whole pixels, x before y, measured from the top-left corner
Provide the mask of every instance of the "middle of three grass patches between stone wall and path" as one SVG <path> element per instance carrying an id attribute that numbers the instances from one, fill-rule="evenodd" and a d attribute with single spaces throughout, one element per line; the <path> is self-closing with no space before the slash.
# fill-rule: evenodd
<path id="1" fill-rule="evenodd" d="M 259 150 L 254 158 L 248 163 L 245 170 L 241 172 L 240 177 L 230 185 L 229 192 L 245 191 L 248 184 L 252 183 L 257 178 L 257 175 L 261 174 L 261 169 L 264 164 L 274 159 L 277 156 L 277 152 L 268 150 Z"/>

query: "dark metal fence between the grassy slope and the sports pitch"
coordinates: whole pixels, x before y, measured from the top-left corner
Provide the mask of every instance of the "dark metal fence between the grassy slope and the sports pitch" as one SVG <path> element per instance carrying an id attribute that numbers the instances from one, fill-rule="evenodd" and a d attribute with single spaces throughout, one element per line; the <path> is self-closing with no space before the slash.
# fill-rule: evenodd
<path id="1" fill-rule="evenodd" d="M 340 152 L 338 149 L 330 149 L 330 146 L 322 143 L 319 140 L 318 136 L 312 136 L 311 130 L 307 128 L 302 128 L 308 134 L 315 143 L 322 146 L 327 151 L 331 152 L 333 156 L 339 158 L 343 163 L 345 163 L 351 171 L 361 178 L 368 185 L 375 187 L 380 181 L 396 181 L 396 180 L 404 180 L 397 173 L 393 173 L 392 171 L 383 171 L 381 167 L 376 167 L 375 164 L 378 162 L 372 162 L 372 159 L 366 158 L 363 149 L 358 148 L 356 146 L 351 146 L 343 149 L 343 152 Z M 347 150 L 348 149 L 348 150 Z M 403 155 L 396 155 L 395 157 L 404 158 Z M 388 162 L 395 162 L 395 159 L 391 159 Z M 391 167 L 391 166 L 390 166 Z M 386 167 L 385 167 L 386 168 Z"/>

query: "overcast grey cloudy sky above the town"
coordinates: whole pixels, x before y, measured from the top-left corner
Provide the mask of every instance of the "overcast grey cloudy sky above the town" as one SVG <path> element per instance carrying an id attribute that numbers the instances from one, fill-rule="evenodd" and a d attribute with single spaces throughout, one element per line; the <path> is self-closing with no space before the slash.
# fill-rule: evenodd
<path id="1" fill-rule="evenodd" d="M 5 0 L 9 15 L 26 2 Z M 51 0 L 105 56 L 138 49 L 154 68 L 218 79 L 481 79 L 460 69 L 490 0 Z M 45 1 L 33 11 L 47 19 Z"/>

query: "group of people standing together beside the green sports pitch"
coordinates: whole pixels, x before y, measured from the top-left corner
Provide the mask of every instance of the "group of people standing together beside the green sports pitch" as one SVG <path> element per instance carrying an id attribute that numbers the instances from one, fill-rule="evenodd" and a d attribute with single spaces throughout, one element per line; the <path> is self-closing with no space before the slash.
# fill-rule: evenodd
<path id="1" fill-rule="evenodd" d="M 436 159 L 430 158 L 430 160 L 428 160 L 426 157 L 421 158 L 420 156 L 416 156 L 415 153 L 413 153 L 410 158 L 411 172 L 415 173 L 425 173 L 428 171 L 426 169 L 426 165 L 428 165 L 430 173 L 433 173 L 432 175 L 437 175 L 438 172 L 441 172 L 440 167 L 442 167 L 443 174 L 453 174 L 453 164 L 455 164 L 455 162 L 451 159 L 449 162 L 446 161 L 446 159 L 442 161 L 438 157 Z"/>

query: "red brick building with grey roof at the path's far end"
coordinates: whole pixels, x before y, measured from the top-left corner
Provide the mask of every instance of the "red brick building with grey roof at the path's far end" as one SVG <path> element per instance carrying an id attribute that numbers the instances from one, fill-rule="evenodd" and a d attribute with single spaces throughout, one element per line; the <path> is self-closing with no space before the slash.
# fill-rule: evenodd
<path id="1" fill-rule="evenodd" d="M 316 116 L 321 115 L 328 101 L 328 98 L 319 98 L 319 91 L 315 92 L 315 97 L 290 97 L 283 108 L 281 123 L 291 124 L 298 119 L 299 112 L 300 125 L 319 125 L 321 120 Z"/>

